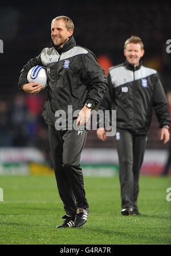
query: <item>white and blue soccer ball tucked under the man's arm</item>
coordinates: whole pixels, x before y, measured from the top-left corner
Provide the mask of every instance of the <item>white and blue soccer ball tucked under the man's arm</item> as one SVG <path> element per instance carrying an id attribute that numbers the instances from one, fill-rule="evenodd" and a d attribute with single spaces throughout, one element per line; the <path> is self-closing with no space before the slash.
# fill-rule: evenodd
<path id="1" fill-rule="evenodd" d="M 34 66 L 28 71 L 27 80 L 29 83 L 42 84 L 43 88 L 47 87 L 47 72 L 42 66 Z"/>

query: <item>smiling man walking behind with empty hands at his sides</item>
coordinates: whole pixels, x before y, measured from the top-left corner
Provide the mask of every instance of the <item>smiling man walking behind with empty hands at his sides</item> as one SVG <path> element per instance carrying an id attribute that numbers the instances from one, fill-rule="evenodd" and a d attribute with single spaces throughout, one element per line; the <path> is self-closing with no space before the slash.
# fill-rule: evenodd
<path id="1" fill-rule="evenodd" d="M 169 140 L 169 111 L 156 70 L 142 65 L 144 45 L 138 36 L 124 44 L 125 63 L 109 69 L 109 90 L 100 109 L 116 109 L 116 147 L 119 155 L 121 214 L 140 214 L 137 206 L 139 173 L 153 108 L 160 125 L 160 139 Z M 100 123 L 100 122 L 99 122 Z M 97 129 L 105 141 L 105 126 Z"/>

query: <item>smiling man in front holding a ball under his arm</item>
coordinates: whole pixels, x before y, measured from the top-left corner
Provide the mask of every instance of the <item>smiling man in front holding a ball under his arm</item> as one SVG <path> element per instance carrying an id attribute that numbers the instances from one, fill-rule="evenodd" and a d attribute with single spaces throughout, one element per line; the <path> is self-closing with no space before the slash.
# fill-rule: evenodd
<path id="1" fill-rule="evenodd" d="M 39 56 L 29 60 L 19 77 L 20 90 L 38 94 L 43 86 L 28 83 L 28 71 L 37 65 L 47 69 L 48 89 L 43 117 L 48 124 L 56 182 L 66 211 L 62 217 L 64 222 L 58 228 L 82 227 L 86 224 L 89 206 L 80 167 L 87 131 L 83 128 L 68 129 L 68 126 L 66 129 L 56 129 L 56 112 L 66 113 L 68 125 L 68 105 L 72 106 L 73 112 L 81 109 L 75 121 L 78 127 L 84 127 L 91 109 L 99 104 L 108 87 L 95 55 L 87 48 L 76 45 L 73 32 L 74 24 L 70 18 L 59 16 L 53 19 L 53 47 L 44 48 Z"/>

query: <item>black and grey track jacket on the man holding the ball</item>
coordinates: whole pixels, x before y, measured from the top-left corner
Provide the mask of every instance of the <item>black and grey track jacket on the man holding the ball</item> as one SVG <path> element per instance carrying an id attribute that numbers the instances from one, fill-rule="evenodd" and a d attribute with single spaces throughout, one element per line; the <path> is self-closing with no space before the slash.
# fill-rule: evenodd
<path id="1" fill-rule="evenodd" d="M 62 49 L 58 50 L 55 46 L 44 48 L 39 56 L 29 60 L 19 76 L 19 90 L 28 83 L 27 73 L 36 65 L 47 69 L 48 92 L 42 115 L 52 126 L 58 109 L 67 111 L 68 105 L 72 105 L 74 112 L 82 109 L 86 101 L 96 105 L 108 87 L 107 78 L 95 55 L 86 48 L 76 46 L 74 36 Z"/>

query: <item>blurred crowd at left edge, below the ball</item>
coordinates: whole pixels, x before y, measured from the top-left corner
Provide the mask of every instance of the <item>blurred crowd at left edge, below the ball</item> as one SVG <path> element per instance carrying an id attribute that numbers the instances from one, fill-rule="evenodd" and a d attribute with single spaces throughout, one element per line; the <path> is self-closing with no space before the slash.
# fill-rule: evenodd
<path id="1" fill-rule="evenodd" d="M 36 147 L 51 162 L 47 125 L 42 117 L 44 96 L 16 94 L 0 101 L 0 147 Z"/>

